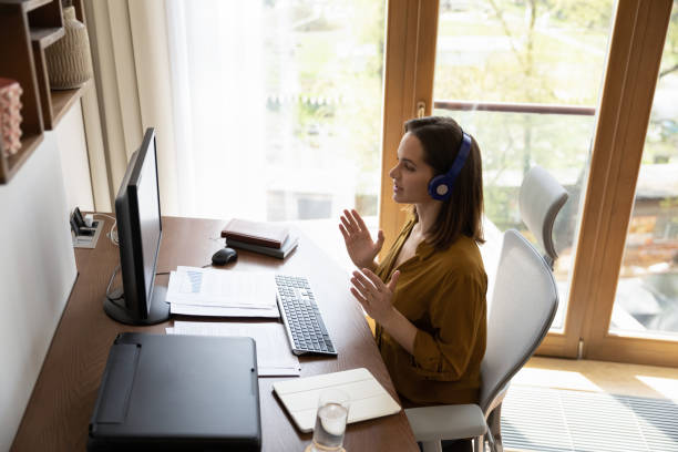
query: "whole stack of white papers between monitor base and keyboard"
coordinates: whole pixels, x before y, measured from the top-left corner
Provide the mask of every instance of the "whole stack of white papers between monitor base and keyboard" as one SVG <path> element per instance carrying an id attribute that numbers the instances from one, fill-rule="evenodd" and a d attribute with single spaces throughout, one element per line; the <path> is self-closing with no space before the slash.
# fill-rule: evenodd
<path id="1" fill-rule="evenodd" d="M 278 318 L 274 274 L 177 267 L 170 274 L 172 314 Z"/>

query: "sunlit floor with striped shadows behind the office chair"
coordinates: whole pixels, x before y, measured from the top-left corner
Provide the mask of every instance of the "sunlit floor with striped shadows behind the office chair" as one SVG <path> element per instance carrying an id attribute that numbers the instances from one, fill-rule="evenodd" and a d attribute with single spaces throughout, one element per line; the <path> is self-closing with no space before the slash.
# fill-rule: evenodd
<path id="1" fill-rule="evenodd" d="M 502 433 L 507 451 L 678 451 L 678 369 L 535 357 Z"/>

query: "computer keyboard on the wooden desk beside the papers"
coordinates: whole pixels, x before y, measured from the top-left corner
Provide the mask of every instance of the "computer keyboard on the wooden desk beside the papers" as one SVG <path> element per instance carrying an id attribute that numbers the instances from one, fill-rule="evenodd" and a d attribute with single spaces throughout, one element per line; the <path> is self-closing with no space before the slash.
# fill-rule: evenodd
<path id="1" fill-rule="evenodd" d="M 337 355 L 316 297 L 308 280 L 300 276 L 276 275 L 278 306 L 292 353 Z"/>

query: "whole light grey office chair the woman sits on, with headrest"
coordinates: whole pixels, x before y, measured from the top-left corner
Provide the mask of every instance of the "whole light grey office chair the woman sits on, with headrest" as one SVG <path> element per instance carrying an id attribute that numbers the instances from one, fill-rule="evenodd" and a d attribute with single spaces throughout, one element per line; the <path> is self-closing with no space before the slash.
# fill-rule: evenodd
<path id="1" fill-rule="evenodd" d="M 501 408 L 508 383 L 540 346 L 556 312 L 558 292 L 552 274 L 556 251 L 555 217 L 567 192 L 543 168 L 533 167 L 521 186 L 523 222 L 546 251 L 542 257 L 517 230 L 504 233 L 481 364 L 480 404 L 405 410 L 424 452 L 441 451 L 442 440 L 474 439 L 474 450 L 503 451 Z"/>

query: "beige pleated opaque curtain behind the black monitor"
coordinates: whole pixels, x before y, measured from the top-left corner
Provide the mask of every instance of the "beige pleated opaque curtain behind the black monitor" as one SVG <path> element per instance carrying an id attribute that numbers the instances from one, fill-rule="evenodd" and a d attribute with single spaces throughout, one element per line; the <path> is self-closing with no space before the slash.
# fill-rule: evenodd
<path id="1" fill-rule="evenodd" d="M 130 156 L 146 127 L 155 127 L 161 209 L 176 215 L 165 2 L 85 0 L 85 10 L 97 94 L 83 102 L 95 207 L 112 209 Z"/>

